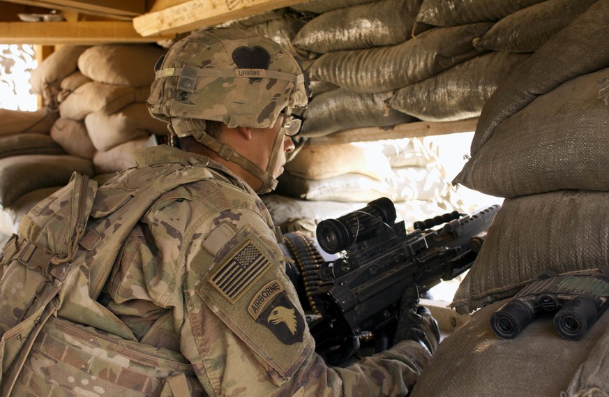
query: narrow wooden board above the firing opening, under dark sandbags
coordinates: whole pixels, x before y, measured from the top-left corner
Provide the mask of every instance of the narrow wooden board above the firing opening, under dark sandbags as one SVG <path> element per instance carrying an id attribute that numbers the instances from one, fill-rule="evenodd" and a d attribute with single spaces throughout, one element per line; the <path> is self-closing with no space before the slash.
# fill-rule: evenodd
<path id="1" fill-rule="evenodd" d="M 392 128 L 355 128 L 340 131 L 324 137 L 313 137 L 307 140 L 308 145 L 339 144 L 349 142 L 368 142 L 375 140 L 395 140 L 400 138 L 428 137 L 432 135 L 447 135 L 453 133 L 467 133 L 476 130 L 478 119 L 459 121 L 445 121 L 433 123 L 430 121 L 416 121 L 414 123 L 398 124 Z"/>

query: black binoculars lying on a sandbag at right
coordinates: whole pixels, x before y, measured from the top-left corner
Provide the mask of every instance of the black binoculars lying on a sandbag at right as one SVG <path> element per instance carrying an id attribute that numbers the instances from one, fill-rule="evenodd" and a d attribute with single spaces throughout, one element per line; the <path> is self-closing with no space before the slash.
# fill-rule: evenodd
<path id="1" fill-rule="evenodd" d="M 560 336 L 580 340 L 607 308 L 609 267 L 595 275 L 547 272 L 493 313 L 490 326 L 500 338 L 516 338 L 541 313 L 557 312 L 554 327 Z"/>

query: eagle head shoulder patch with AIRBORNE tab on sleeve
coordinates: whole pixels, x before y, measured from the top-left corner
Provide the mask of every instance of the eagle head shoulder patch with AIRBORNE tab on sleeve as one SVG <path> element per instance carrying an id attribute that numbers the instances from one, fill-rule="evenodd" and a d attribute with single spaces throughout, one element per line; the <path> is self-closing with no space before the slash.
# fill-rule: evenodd
<path id="1" fill-rule="evenodd" d="M 304 320 L 278 280 L 267 283 L 254 295 L 248 312 L 286 345 L 302 342 Z"/>

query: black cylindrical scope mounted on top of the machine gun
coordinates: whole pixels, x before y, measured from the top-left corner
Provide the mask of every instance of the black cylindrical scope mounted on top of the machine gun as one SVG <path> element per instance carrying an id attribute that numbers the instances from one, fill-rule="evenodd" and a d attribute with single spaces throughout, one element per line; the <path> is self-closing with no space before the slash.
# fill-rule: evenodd
<path id="1" fill-rule="evenodd" d="M 379 227 L 393 225 L 396 220 L 396 207 L 387 197 L 371 201 L 356 211 L 336 219 L 319 222 L 315 234 L 319 246 L 326 253 L 338 253 L 358 241 L 377 234 Z"/>

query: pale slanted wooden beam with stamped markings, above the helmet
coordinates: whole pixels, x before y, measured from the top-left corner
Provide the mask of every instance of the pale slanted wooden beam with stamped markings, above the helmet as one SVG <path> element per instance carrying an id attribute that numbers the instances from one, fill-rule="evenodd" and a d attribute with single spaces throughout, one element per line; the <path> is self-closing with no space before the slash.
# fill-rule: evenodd
<path id="1" fill-rule="evenodd" d="M 190 0 L 133 18 L 142 36 L 185 33 L 301 3 L 303 0 Z"/>

